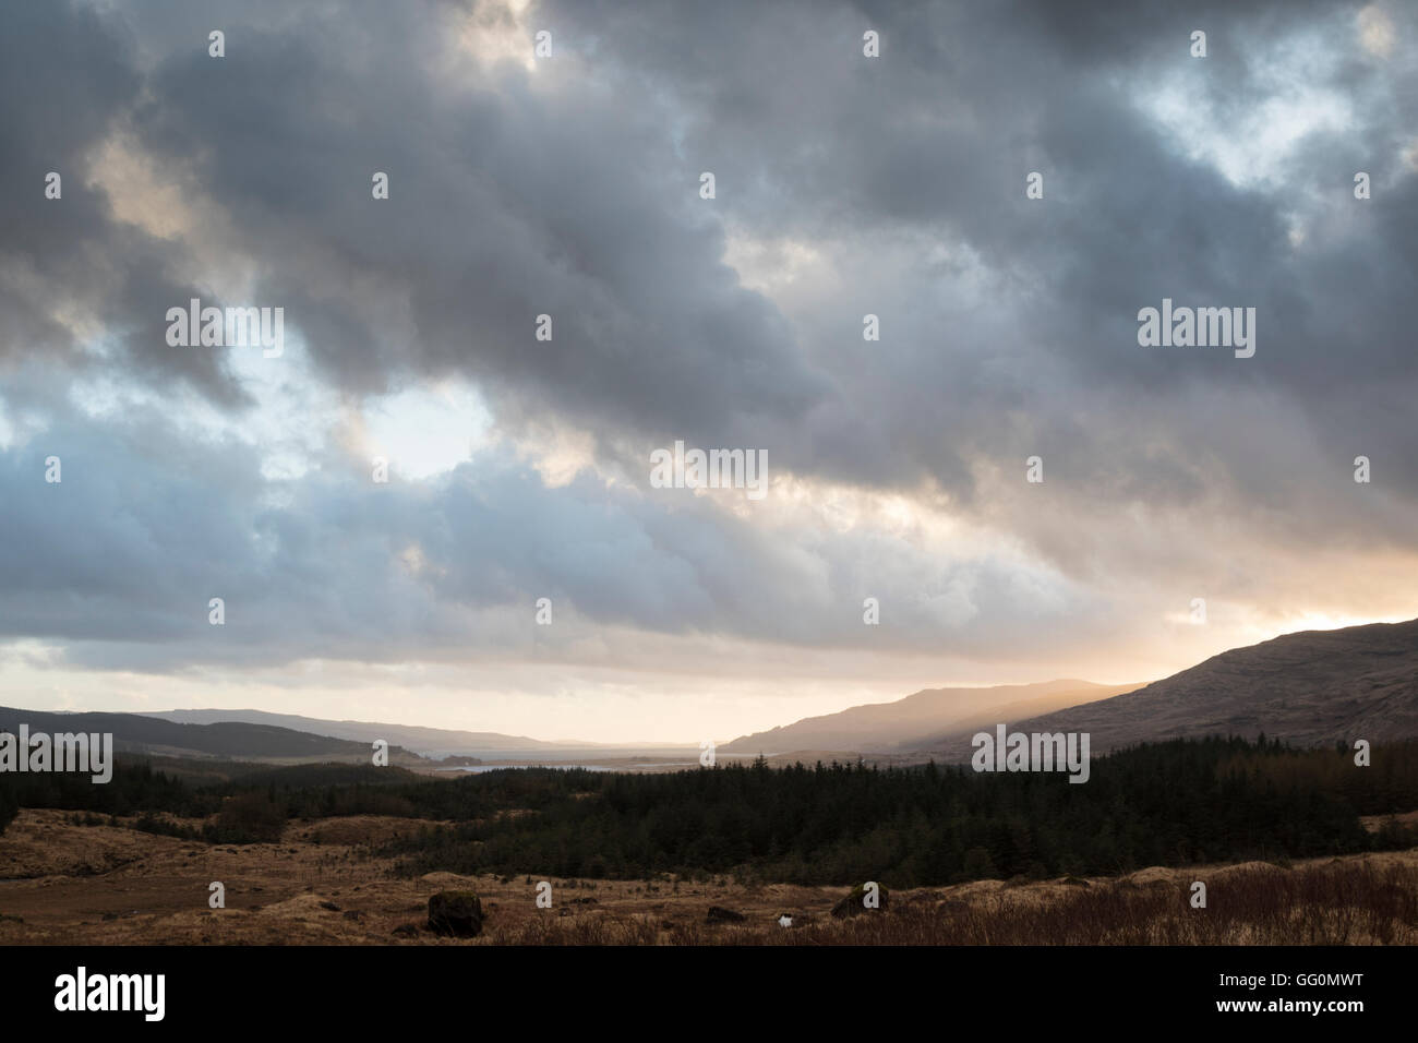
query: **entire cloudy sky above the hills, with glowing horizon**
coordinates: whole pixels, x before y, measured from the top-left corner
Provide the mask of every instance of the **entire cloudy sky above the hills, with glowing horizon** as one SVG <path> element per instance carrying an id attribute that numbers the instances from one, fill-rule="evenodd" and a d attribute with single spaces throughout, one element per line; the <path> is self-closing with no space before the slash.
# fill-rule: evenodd
<path id="1" fill-rule="evenodd" d="M 726 741 L 1418 616 L 1415 44 L 1402 3 L 7 3 L 0 704 Z M 174 345 L 193 298 L 279 355 Z M 1140 345 L 1164 299 L 1255 353 Z M 676 441 L 764 494 L 654 481 Z"/>

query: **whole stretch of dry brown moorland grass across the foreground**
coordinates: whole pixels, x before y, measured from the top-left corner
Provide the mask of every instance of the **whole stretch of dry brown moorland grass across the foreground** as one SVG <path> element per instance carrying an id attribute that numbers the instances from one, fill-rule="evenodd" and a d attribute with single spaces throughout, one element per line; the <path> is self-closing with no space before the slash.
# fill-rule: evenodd
<path id="1" fill-rule="evenodd" d="M 844 887 L 566 881 L 535 904 L 536 874 L 499 881 L 394 876 L 376 844 L 424 823 L 377 816 L 294 823 L 278 844 L 207 846 L 21 812 L 0 843 L 0 945 L 1412 945 L 1418 849 L 1297 863 L 1151 867 L 1122 878 L 981 880 L 892 893 L 889 910 L 834 920 Z M 227 884 L 208 910 L 207 883 Z M 1208 888 L 1208 908 L 1188 904 Z M 886 881 L 889 884 L 889 881 Z M 472 888 L 475 939 L 394 928 L 428 897 Z M 335 905 L 336 908 L 329 908 Z M 708 924 L 710 905 L 744 914 Z M 790 914 L 791 928 L 777 924 Z M 18 918 L 18 920 L 17 920 Z"/>

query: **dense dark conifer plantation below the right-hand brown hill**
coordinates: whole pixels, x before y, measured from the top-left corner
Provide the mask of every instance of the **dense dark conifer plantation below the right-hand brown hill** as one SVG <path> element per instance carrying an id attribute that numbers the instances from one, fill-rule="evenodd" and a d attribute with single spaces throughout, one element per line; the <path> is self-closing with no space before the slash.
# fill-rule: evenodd
<path id="1" fill-rule="evenodd" d="M 1350 751 L 1177 741 L 1099 759 L 1085 785 L 936 766 L 571 772 L 543 778 L 557 796 L 536 813 L 440 827 L 397 847 L 410 873 L 747 867 L 766 880 L 898 887 L 1310 857 L 1415 843 L 1411 832 L 1375 836 L 1358 822 L 1418 809 L 1415 754 L 1418 744 L 1402 744 L 1357 768 Z"/>

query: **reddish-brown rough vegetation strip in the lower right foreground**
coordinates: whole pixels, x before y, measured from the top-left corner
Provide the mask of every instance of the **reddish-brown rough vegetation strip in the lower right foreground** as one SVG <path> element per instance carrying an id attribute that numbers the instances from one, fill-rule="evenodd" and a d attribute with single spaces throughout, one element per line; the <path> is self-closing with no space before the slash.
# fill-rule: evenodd
<path id="1" fill-rule="evenodd" d="M 1141 876 L 1141 880 L 1134 878 Z M 1160 870 L 1088 885 L 1048 881 L 900 895 L 885 914 L 658 929 L 649 917 L 546 917 L 489 941 L 510 945 L 1412 945 L 1418 861 L 1336 859 L 1273 866 Z M 1190 883 L 1208 885 L 1207 908 Z"/>

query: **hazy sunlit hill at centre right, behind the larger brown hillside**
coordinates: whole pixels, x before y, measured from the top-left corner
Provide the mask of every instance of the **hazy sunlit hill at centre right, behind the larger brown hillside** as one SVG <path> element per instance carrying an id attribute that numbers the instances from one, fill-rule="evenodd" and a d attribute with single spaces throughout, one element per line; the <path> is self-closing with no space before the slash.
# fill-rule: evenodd
<path id="1" fill-rule="evenodd" d="M 1037 715 L 1137 687 L 1065 680 L 990 688 L 926 688 L 895 702 L 872 702 L 838 714 L 807 717 L 795 724 L 744 735 L 719 749 L 767 755 L 803 749 L 895 754 L 940 742 L 947 735 L 976 727 L 978 721 L 997 721 L 1005 708 L 1011 708 L 1008 712 L 1012 714 Z"/>

